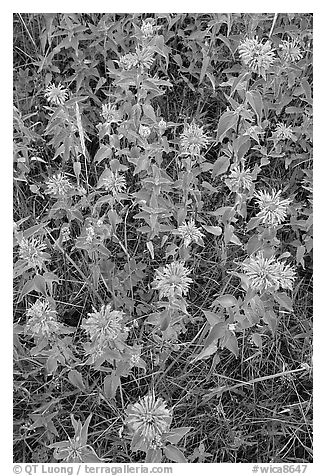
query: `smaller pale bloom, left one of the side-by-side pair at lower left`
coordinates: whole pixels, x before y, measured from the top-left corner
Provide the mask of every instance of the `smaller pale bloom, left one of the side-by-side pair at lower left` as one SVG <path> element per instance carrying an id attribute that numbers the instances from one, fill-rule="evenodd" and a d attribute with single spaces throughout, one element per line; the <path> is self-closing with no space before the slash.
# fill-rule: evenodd
<path id="1" fill-rule="evenodd" d="M 60 324 L 57 321 L 57 313 L 46 300 L 38 299 L 26 312 L 28 321 L 26 331 L 30 331 L 34 336 L 50 337 L 57 334 Z"/>

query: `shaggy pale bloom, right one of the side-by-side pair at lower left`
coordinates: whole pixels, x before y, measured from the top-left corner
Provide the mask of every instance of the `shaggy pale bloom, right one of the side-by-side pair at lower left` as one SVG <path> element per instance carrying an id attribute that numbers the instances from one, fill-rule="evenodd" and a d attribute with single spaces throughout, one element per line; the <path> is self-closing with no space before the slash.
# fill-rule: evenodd
<path id="1" fill-rule="evenodd" d="M 127 329 L 123 324 L 123 312 L 113 311 L 111 304 L 103 305 L 100 311 L 91 312 L 81 325 L 92 342 L 109 344 L 112 347 L 115 341 L 125 340 Z"/>

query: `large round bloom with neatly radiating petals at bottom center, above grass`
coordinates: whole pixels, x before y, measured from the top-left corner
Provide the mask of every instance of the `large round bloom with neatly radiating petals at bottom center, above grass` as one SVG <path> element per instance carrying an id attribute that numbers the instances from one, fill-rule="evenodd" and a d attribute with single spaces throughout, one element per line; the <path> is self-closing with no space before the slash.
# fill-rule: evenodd
<path id="1" fill-rule="evenodd" d="M 166 408 L 166 403 L 161 398 L 156 399 L 154 394 L 128 405 L 126 415 L 126 425 L 147 448 L 159 446 L 163 433 L 169 431 L 172 421 L 172 411 Z"/>

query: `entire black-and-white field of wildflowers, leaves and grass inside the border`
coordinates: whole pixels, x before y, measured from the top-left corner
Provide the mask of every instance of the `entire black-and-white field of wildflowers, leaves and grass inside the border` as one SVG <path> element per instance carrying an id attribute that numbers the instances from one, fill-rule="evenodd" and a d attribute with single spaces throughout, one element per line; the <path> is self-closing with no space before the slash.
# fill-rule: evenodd
<path id="1" fill-rule="evenodd" d="M 312 15 L 13 21 L 15 461 L 311 461 Z"/>

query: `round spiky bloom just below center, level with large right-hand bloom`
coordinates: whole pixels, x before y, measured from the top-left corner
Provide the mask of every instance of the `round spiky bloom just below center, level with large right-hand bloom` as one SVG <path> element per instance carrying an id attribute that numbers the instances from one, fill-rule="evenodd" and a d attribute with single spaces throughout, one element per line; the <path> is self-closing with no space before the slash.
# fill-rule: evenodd
<path id="1" fill-rule="evenodd" d="M 188 278 L 189 273 L 181 262 L 167 264 L 162 270 L 156 270 L 153 288 L 159 291 L 160 299 L 185 295 L 193 282 Z"/>

